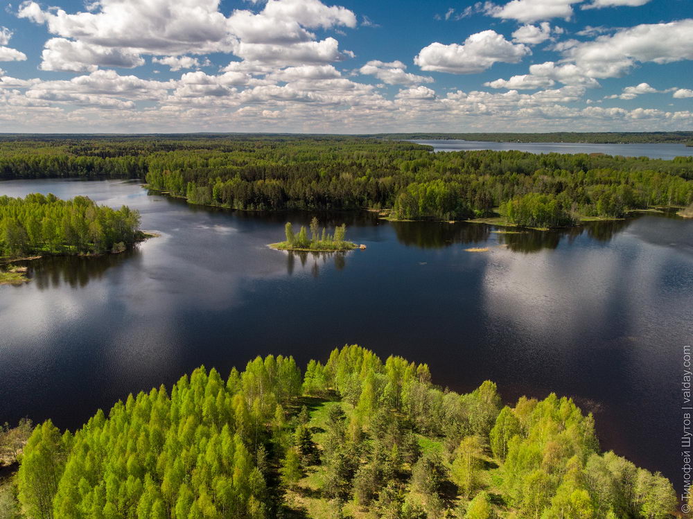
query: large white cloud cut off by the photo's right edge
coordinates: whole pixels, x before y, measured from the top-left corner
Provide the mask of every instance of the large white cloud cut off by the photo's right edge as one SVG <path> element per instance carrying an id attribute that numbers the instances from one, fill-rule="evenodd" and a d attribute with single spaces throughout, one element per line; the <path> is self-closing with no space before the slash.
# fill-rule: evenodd
<path id="1" fill-rule="evenodd" d="M 623 76 L 638 62 L 693 60 L 693 19 L 622 29 L 572 46 L 564 55 L 591 78 Z"/>

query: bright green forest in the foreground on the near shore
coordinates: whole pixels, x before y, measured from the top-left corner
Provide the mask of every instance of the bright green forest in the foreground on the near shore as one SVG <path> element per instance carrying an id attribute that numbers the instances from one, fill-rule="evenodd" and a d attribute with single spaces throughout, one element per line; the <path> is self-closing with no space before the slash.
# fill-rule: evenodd
<path id="1" fill-rule="evenodd" d="M 359 346 L 200 367 L 75 432 L 37 425 L 0 492 L 7 519 L 664 519 L 672 484 L 614 452 L 569 398 L 504 405 Z M 30 434 L 29 434 L 30 433 Z M 10 449 L 11 451 L 11 449 Z"/>

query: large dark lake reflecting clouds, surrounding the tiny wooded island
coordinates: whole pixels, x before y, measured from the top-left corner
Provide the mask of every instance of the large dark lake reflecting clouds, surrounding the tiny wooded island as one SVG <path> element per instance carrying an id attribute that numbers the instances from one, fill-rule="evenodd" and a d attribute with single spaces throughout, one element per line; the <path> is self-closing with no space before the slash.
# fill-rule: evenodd
<path id="1" fill-rule="evenodd" d="M 0 286 L 0 422 L 51 417 L 73 429 L 200 364 L 227 376 L 256 355 L 305 365 L 358 343 L 428 362 L 462 392 L 491 379 L 508 402 L 573 396 L 595 412 L 604 448 L 681 489 L 693 220 L 497 234 L 318 213 L 367 245 L 319 256 L 266 247 L 313 213 L 196 207 L 129 181 L 0 182 L 0 194 L 34 192 L 128 204 L 161 237 L 116 256 L 30 262 L 30 283 Z"/>

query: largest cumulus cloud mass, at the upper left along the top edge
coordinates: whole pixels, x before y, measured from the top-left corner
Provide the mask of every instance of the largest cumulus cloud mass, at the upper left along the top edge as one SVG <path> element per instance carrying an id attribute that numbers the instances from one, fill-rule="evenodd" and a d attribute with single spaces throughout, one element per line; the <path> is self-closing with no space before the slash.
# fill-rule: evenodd
<path id="1" fill-rule="evenodd" d="M 337 40 L 315 41 L 310 32 L 355 27 L 356 16 L 347 8 L 328 7 L 319 0 L 268 0 L 257 13 L 236 10 L 226 17 L 219 9 L 220 0 L 98 0 L 85 12 L 69 14 L 58 8 L 42 10 L 27 0 L 21 3 L 18 16 L 46 24 L 59 37 L 53 39 L 52 49 L 46 48 L 50 61 L 44 68 L 49 70 L 133 67 L 143 63 L 143 54 L 223 52 L 270 64 L 331 62 L 353 56 L 340 52 Z M 89 53 L 90 47 L 96 51 Z M 85 59 L 80 62 L 80 57 Z"/>

